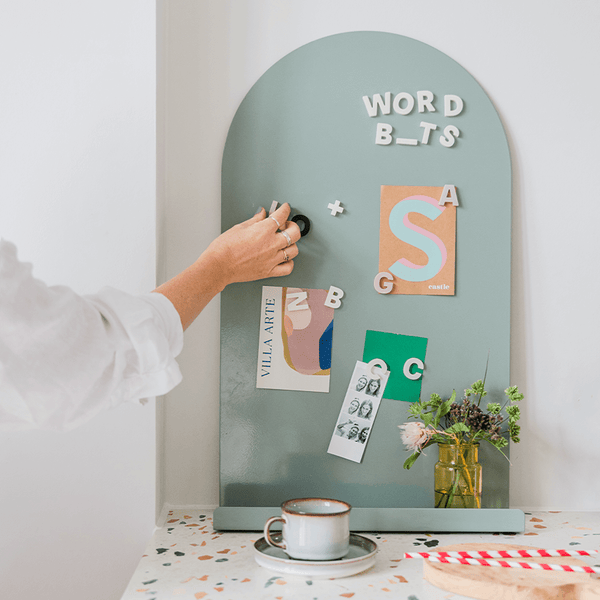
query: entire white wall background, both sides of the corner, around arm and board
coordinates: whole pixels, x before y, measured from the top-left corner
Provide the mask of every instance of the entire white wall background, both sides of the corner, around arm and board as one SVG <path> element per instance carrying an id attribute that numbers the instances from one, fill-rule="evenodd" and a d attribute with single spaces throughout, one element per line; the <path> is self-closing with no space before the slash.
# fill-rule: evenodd
<path id="1" fill-rule="evenodd" d="M 0 235 L 36 276 L 152 289 L 156 232 L 160 280 L 219 233 L 227 129 L 273 63 L 344 31 L 431 44 L 483 86 L 512 152 L 512 378 L 526 400 L 511 504 L 599 509 L 597 0 L 161 0 L 156 223 L 154 18 L 150 0 L 2 2 Z M 159 509 L 218 502 L 218 339 L 213 302 L 159 404 Z M 152 529 L 151 411 L 0 437 L 2 596 L 120 596 Z"/>

